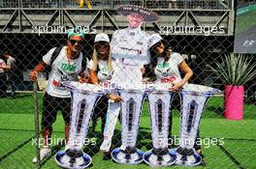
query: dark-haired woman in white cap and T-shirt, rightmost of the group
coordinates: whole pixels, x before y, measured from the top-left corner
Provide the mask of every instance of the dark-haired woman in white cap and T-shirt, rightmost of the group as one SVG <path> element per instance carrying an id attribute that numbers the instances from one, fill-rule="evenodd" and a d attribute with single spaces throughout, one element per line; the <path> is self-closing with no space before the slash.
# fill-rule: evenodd
<path id="1" fill-rule="evenodd" d="M 192 77 L 193 71 L 179 53 L 166 48 L 166 42 L 159 34 L 153 34 L 148 43 L 153 80 L 161 83 L 172 83 L 171 91 L 178 92 Z M 183 78 L 181 78 L 179 70 L 184 72 Z M 172 114 L 170 116 L 170 126 L 172 126 Z M 199 130 L 197 135 L 200 138 Z M 195 144 L 194 147 L 199 154 L 202 154 L 201 145 Z"/>

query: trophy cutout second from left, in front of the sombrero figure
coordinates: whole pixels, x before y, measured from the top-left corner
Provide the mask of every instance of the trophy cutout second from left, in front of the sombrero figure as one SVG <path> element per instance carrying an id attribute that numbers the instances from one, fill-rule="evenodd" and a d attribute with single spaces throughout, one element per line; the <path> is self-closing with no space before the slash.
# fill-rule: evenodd
<path id="1" fill-rule="evenodd" d="M 140 116 L 144 99 L 145 87 L 138 85 L 120 85 L 122 120 L 122 146 L 112 151 L 112 159 L 122 164 L 139 164 L 144 153 L 136 148 L 137 135 L 140 126 Z"/>

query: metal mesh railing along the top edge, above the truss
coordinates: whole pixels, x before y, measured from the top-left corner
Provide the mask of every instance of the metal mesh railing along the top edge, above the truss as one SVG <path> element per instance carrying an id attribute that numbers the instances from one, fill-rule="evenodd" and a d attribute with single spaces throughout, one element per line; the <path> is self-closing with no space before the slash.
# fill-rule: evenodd
<path id="1" fill-rule="evenodd" d="M 84 0 L 85 1 L 85 0 Z M 119 5 L 134 4 L 150 9 L 203 9 L 232 8 L 234 0 L 87 0 L 93 9 L 115 9 Z M 20 2 L 20 3 L 19 3 Z M 79 0 L 0 0 L 0 8 L 80 8 Z M 82 8 L 86 8 L 84 5 Z"/>

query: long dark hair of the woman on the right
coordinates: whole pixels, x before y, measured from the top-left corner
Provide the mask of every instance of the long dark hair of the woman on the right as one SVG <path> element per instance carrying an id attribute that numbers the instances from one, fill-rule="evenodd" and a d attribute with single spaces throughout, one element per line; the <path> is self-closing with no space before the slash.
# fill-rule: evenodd
<path id="1" fill-rule="evenodd" d="M 162 40 L 161 42 L 164 44 L 164 51 L 163 51 L 163 55 L 161 57 L 163 57 L 165 59 L 165 62 L 168 62 L 169 59 L 171 58 L 172 51 L 168 48 L 166 41 Z M 158 45 L 159 45 L 159 42 L 157 42 L 156 44 L 154 44 L 153 46 L 151 46 L 149 48 L 150 68 L 151 68 L 149 71 L 150 81 L 156 80 L 156 75 L 154 73 L 154 70 L 157 65 L 157 58 L 159 57 L 159 54 L 156 52 L 156 46 L 158 46 Z"/>

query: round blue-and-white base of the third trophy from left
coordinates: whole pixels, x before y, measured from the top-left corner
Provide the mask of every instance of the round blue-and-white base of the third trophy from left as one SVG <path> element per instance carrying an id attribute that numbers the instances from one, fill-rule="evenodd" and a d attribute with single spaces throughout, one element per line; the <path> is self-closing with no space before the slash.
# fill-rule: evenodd
<path id="1" fill-rule="evenodd" d="M 152 149 L 144 153 L 144 162 L 152 167 L 170 166 L 176 162 L 176 152 L 168 149 Z"/>

